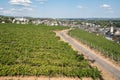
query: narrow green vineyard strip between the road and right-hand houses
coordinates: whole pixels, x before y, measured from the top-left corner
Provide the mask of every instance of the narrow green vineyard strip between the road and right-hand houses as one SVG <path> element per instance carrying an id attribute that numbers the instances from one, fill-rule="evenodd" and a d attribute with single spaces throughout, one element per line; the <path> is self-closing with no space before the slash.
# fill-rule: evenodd
<path id="1" fill-rule="evenodd" d="M 89 33 L 80 29 L 71 30 L 69 34 L 91 48 L 97 49 L 103 53 L 104 56 L 109 57 L 116 62 L 120 62 L 119 44 L 109 41 L 102 36 L 97 36 L 94 33 Z"/>

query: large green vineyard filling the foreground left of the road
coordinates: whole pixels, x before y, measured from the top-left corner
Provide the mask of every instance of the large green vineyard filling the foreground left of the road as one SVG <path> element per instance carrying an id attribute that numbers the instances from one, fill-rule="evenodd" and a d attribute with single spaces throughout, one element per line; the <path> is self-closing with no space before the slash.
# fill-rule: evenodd
<path id="1" fill-rule="evenodd" d="M 0 24 L 0 76 L 100 77 L 83 55 L 55 36 L 66 27 Z"/>

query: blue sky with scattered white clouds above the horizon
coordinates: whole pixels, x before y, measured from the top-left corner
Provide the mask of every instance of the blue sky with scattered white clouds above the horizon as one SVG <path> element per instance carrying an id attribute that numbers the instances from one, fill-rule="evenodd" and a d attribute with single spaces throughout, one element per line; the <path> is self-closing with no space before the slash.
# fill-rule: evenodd
<path id="1" fill-rule="evenodd" d="M 0 15 L 39 18 L 120 18 L 120 0 L 0 0 Z"/>

